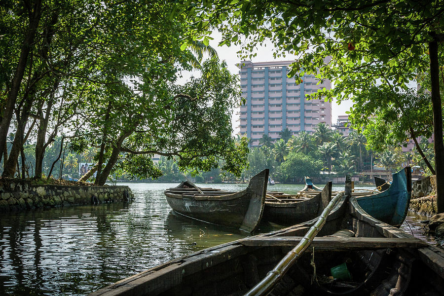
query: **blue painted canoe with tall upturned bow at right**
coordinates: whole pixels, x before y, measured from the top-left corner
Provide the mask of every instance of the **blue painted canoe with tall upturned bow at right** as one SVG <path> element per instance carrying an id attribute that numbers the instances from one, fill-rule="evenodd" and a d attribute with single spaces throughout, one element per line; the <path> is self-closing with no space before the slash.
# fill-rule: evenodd
<path id="1" fill-rule="evenodd" d="M 388 189 L 357 196 L 358 204 L 373 218 L 393 226 L 400 226 L 407 216 L 411 196 L 411 169 L 406 167 L 393 174 Z"/>

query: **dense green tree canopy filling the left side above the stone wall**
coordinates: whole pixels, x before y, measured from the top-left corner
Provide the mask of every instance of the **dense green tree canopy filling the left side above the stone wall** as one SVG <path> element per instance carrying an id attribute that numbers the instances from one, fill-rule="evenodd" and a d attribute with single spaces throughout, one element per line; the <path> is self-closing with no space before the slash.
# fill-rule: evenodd
<path id="1" fill-rule="evenodd" d="M 66 143 L 79 153 L 96 149 L 97 184 L 116 164 L 135 176 L 159 176 L 154 153 L 177 158 L 192 173 L 222 159 L 225 170 L 240 174 L 248 148 L 231 136 L 237 79 L 217 58 L 201 63 L 214 51 L 192 37 L 195 15 L 187 8 L 163 1 L 5 1 L 2 175 L 14 176 L 19 155 L 26 163 L 23 143 L 37 139 L 36 178 L 42 177 L 44 151 L 60 134 L 60 151 Z M 176 85 L 193 67 L 201 77 Z"/>

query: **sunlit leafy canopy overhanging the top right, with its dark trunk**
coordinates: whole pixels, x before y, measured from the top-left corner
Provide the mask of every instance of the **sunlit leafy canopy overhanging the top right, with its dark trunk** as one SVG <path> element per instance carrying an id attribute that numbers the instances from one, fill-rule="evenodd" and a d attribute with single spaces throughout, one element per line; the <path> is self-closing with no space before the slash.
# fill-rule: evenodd
<path id="1" fill-rule="evenodd" d="M 191 2 L 191 1 L 190 1 Z M 244 56 L 271 39 L 276 55 L 295 54 L 289 75 L 313 74 L 335 87 L 311 97 L 354 98 L 382 83 L 408 88 L 418 74 L 430 73 L 438 211 L 444 212 L 443 118 L 439 90 L 439 42 L 444 40 L 440 1 L 387 0 L 215 0 L 202 11 L 196 31 L 221 30 L 221 44 L 245 44 Z M 202 29 L 206 32 L 202 33 Z M 429 58 L 430 57 L 430 58 Z M 297 79 L 296 79 L 297 81 Z"/>

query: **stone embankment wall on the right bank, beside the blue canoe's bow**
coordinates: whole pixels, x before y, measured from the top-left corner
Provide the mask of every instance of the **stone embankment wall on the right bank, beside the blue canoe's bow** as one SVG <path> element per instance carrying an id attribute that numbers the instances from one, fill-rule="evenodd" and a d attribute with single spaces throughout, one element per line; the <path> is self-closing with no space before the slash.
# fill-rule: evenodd
<path id="1" fill-rule="evenodd" d="M 425 177 L 413 182 L 411 186 L 410 210 L 422 215 L 432 216 L 437 213 L 436 176 Z"/>

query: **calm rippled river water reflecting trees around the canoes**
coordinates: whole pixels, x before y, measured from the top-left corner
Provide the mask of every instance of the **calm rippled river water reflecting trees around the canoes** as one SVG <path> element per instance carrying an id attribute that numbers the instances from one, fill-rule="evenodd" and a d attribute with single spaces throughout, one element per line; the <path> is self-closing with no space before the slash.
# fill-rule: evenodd
<path id="1" fill-rule="evenodd" d="M 121 183 L 135 201 L 0 215 L 0 295 L 86 295 L 171 259 L 245 236 L 171 212 L 163 190 L 177 184 Z M 208 185 L 202 185 L 208 187 Z M 246 185 L 215 184 L 225 190 Z M 288 193 L 303 185 L 275 185 Z M 334 186 L 333 190 L 343 190 Z M 426 217 L 402 228 L 421 235 Z M 261 225 L 259 232 L 276 229 Z"/>

